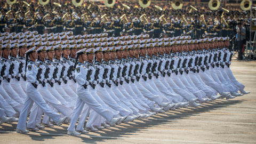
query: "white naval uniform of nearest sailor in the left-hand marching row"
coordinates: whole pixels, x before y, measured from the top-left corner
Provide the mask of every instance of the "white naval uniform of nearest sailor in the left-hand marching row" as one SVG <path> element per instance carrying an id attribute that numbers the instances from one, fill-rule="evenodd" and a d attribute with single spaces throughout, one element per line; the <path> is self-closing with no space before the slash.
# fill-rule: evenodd
<path id="1" fill-rule="evenodd" d="M 39 91 L 33 86 L 33 84 L 36 84 L 38 81 L 36 80 L 36 75 L 38 72 L 38 67 L 35 62 L 29 61 L 27 66 L 27 87 L 26 92 L 28 94 L 28 97 L 25 100 L 25 104 L 21 110 L 19 122 L 17 125 L 17 129 L 25 130 L 26 129 L 26 122 L 27 122 L 27 116 L 32 108 L 34 102 L 36 105 L 38 105 L 44 113 L 49 116 L 51 119 L 53 119 L 54 122 L 57 122 L 60 118 L 60 114 L 54 112 L 44 101 L 42 95 L 39 93 Z"/>

